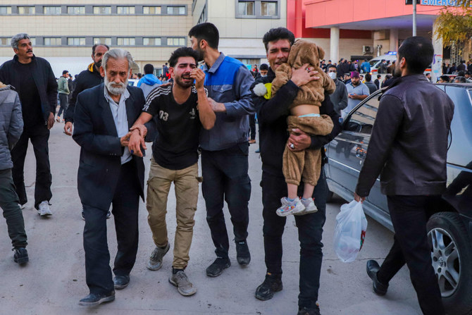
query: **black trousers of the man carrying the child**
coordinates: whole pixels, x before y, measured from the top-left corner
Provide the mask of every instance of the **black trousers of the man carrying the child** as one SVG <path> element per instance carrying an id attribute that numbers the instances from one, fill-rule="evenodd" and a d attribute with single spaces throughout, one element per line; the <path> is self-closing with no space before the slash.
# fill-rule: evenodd
<path id="1" fill-rule="evenodd" d="M 282 234 L 286 218 L 278 216 L 275 210 L 280 206 L 280 198 L 287 197 L 285 178 L 262 173 L 263 237 L 264 253 L 268 273 L 282 273 Z M 298 195 L 303 194 L 303 185 Z M 318 211 L 304 216 L 295 216 L 300 242 L 299 266 L 299 307 L 313 308 L 318 300 L 321 263 L 323 261 L 323 225 L 326 221 L 326 196 L 328 185 L 324 168 L 313 191 Z"/>

